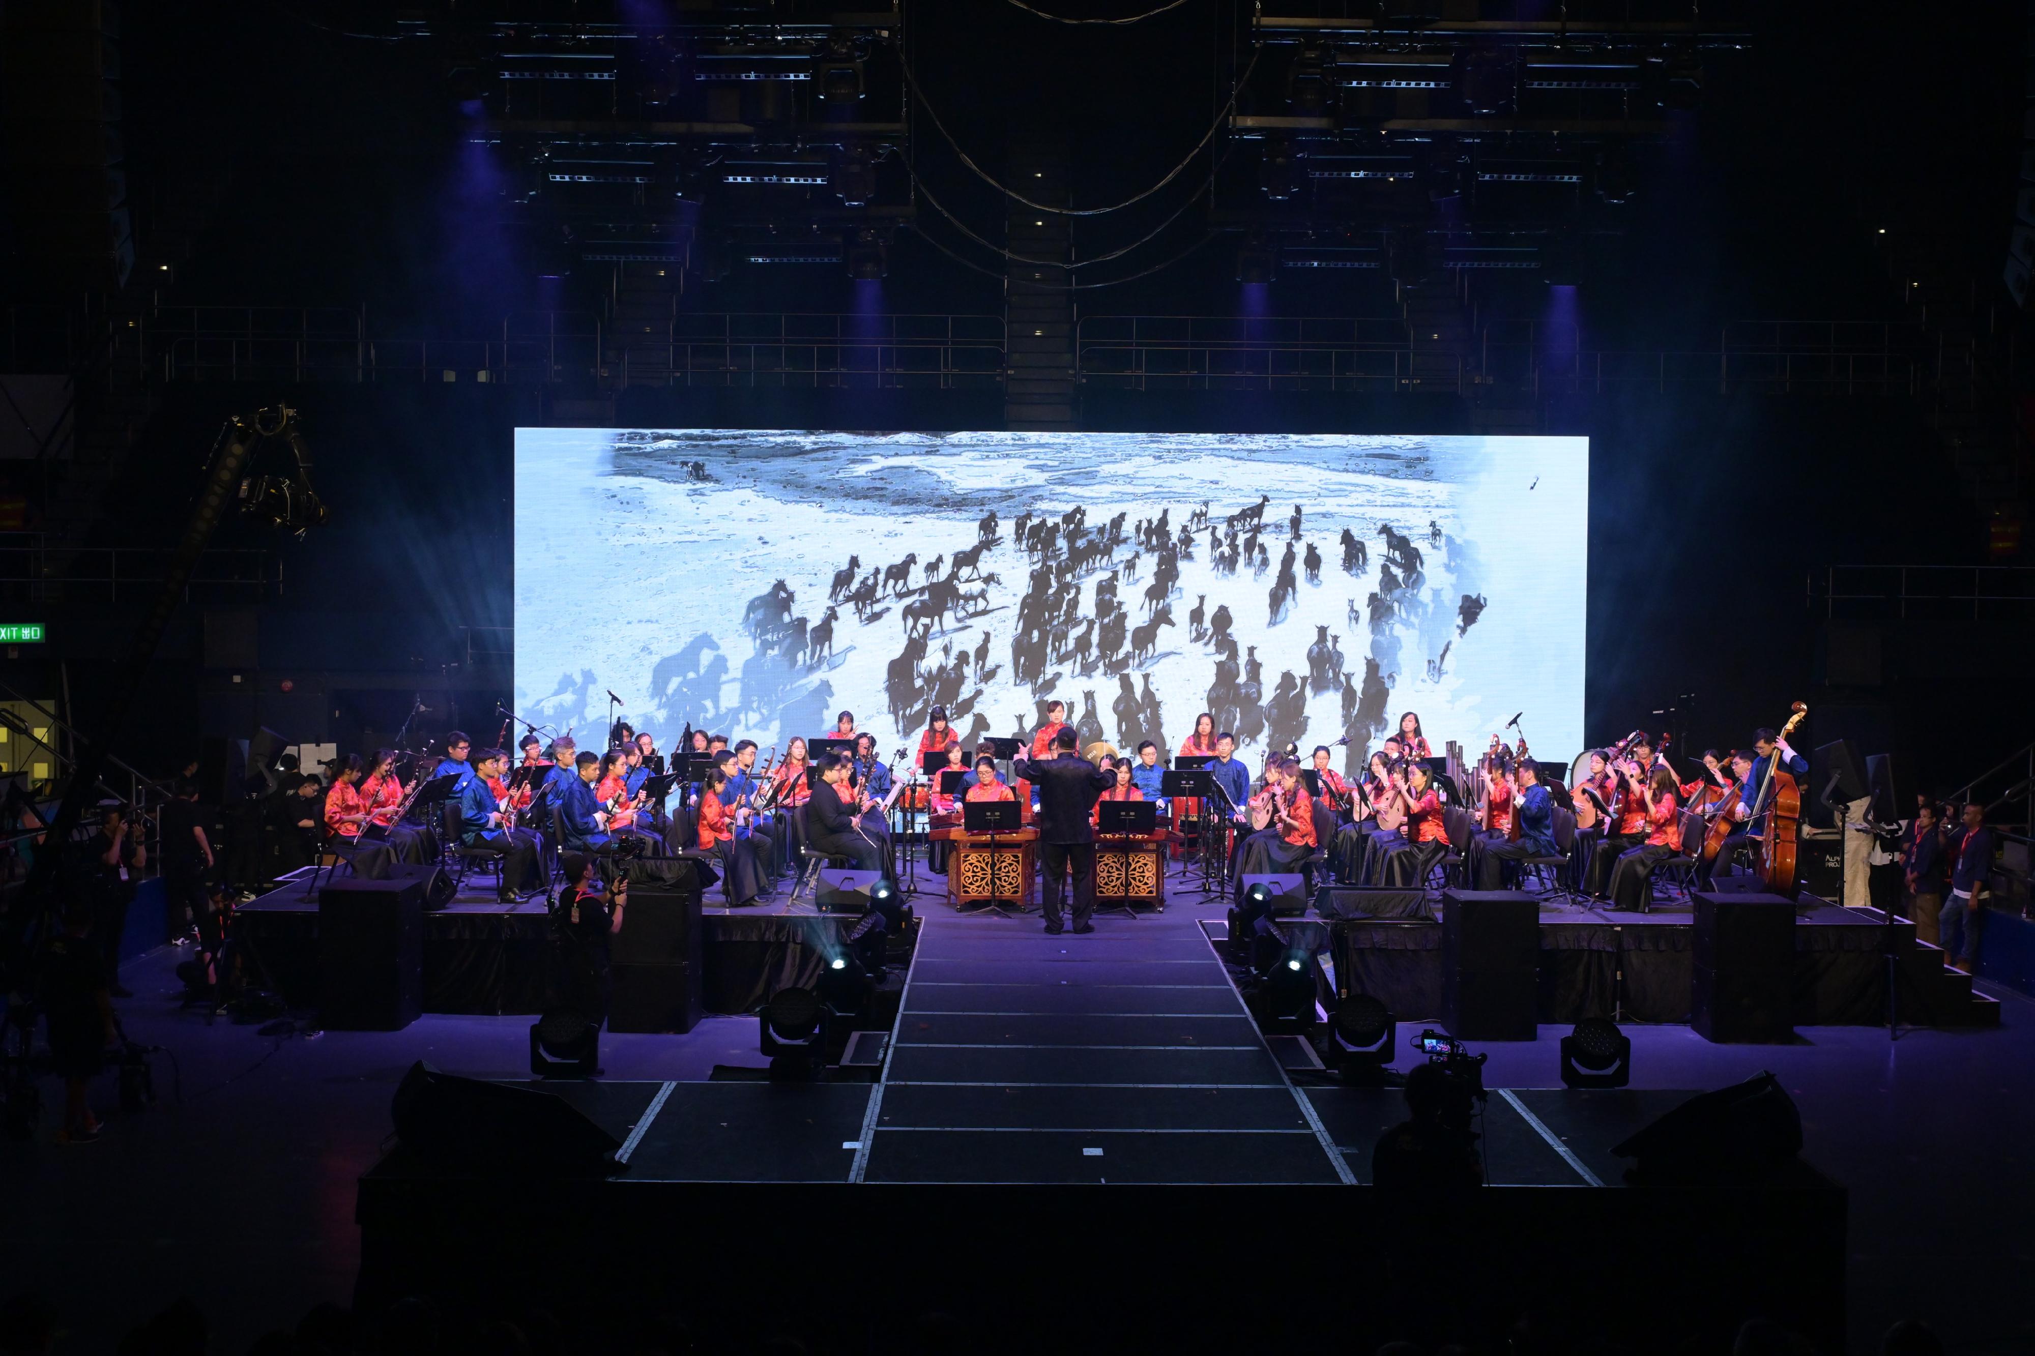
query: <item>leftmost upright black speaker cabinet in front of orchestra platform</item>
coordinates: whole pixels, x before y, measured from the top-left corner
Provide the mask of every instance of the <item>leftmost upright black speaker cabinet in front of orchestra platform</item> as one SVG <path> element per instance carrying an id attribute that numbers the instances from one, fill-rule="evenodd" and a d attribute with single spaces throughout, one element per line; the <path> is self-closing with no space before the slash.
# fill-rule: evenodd
<path id="1" fill-rule="evenodd" d="M 423 882 L 342 878 L 317 892 L 317 1020 L 403 1030 L 423 1014 Z"/>

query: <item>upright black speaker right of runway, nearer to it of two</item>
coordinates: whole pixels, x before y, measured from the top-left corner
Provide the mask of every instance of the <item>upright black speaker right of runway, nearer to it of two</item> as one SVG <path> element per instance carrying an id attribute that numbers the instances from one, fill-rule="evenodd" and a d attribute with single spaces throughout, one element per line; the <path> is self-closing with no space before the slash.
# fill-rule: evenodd
<path id="1" fill-rule="evenodd" d="M 1441 896 L 1441 1024 L 1461 1040 L 1538 1032 L 1540 900 L 1518 890 Z"/>

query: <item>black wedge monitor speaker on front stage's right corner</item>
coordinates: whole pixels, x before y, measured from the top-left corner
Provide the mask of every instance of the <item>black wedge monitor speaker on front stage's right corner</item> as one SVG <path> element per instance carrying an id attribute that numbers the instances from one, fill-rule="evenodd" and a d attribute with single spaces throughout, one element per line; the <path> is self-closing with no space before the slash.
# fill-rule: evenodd
<path id="1" fill-rule="evenodd" d="M 1648 1185 L 1756 1183 L 1801 1154 L 1801 1110 L 1772 1073 L 1697 1093 L 1612 1148 Z"/>

